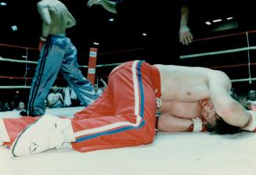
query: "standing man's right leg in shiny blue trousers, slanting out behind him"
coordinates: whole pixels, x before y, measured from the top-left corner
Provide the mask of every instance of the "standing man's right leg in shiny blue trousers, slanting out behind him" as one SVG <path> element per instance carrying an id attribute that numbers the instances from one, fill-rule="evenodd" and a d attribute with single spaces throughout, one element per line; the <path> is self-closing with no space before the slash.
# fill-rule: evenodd
<path id="1" fill-rule="evenodd" d="M 78 99 L 82 105 L 90 105 L 98 97 L 94 90 L 92 83 L 88 81 L 79 70 L 77 49 L 71 43 L 70 39 L 67 38 L 66 54 L 63 59 L 63 63 L 60 72 L 63 74 L 68 85 L 74 89 Z"/>

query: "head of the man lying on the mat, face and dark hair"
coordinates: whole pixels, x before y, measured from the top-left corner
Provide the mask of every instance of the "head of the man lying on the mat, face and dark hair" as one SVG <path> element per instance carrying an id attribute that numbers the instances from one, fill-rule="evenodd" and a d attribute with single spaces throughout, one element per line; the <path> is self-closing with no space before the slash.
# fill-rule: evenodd
<path id="1" fill-rule="evenodd" d="M 201 115 L 207 122 L 207 131 L 213 134 L 236 134 L 242 131 L 240 127 L 234 127 L 218 116 L 210 99 L 200 101 L 200 106 L 202 107 Z"/>

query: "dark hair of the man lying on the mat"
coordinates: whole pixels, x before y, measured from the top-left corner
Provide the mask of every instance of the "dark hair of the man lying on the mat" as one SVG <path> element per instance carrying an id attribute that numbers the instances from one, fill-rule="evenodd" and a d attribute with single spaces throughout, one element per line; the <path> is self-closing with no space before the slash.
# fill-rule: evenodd
<path id="1" fill-rule="evenodd" d="M 207 123 L 207 131 L 213 134 L 236 134 L 243 131 L 240 127 L 235 127 L 226 123 L 222 117 L 218 116 L 218 114 L 215 115 L 217 116 L 216 121 L 215 123 Z"/>

